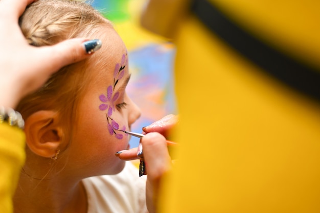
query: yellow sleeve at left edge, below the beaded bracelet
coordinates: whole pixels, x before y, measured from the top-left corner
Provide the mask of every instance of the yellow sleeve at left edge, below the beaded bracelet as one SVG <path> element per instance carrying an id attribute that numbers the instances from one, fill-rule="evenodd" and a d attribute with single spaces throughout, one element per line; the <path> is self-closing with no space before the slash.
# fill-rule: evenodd
<path id="1" fill-rule="evenodd" d="M 12 197 L 25 162 L 25 134 L 17 127 L 0 123 L 0 209 L 13 212 Z"/>

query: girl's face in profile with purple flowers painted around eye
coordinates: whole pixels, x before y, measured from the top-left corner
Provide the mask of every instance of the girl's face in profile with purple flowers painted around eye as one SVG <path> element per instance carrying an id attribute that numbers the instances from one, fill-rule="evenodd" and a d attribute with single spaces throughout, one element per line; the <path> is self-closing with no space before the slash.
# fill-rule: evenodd
<path id="1" fill-rule="evenodd" d="M 129 148 L 129 137 L 120 130 L 130 130 L 140 117 L 139 108 L 125 92 L 130 78 L 125 45 L 112 29 L 102 29 L 98 36 L 102 47 L 89 59 L 86 72 L 93 77 L 78 105 L 75 132 L 68 147 L 69 159 L 75 159 L 73 168 L 85 167 L 88 176 L 115 174 L 123 169 L 124 161 L 115 153 Z"/>

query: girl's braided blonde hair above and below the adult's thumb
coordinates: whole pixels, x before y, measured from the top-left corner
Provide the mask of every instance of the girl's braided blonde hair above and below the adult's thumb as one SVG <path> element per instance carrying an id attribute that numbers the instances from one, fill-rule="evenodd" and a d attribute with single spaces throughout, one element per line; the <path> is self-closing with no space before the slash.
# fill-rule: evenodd
<path id="1" fill-rule="evenodd" d="M 101 27 L 112 28 L 111 23 L 92 6 L 71 0 L 34 2 L 22 14 L 19 24 L 22 33 L 33 46 L 53 45 L 75 37 L 90 37 Z M 85 68 L 86 61 L 63 67 L 43 87 L 23 98 L 16 109 L 24 119 L 40 110 L 59 112 L 64 126 L 71 130 L 76 103 L 90 79 L 89 74 L 84 72 Z"/>

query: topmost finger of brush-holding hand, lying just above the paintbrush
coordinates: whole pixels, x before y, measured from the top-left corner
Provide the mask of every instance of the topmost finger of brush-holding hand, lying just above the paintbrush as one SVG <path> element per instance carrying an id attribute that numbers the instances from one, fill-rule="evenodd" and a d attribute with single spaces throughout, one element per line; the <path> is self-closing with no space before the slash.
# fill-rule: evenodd
<path id="1" fill-rule="evenodd" d="M 167 135 L 167 132 L 172 129 L 177 123 L 178 116 L 170 114 L 158 121 L 155 121 L 149 126 L 143 127 L 143 131 L 146 133 L 156 131 L 162 135 Z"/>

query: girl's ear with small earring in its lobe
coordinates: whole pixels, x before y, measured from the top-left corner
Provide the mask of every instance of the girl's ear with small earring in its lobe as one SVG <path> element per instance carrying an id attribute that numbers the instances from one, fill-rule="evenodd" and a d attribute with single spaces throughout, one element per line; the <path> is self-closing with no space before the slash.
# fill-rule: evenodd
<path id="1" fill-rule="evenodd" d="M 63 139 L 58 113 L 38 111 L 25 120 L 26 141 L 37 155 L 54 157 Z"/>

